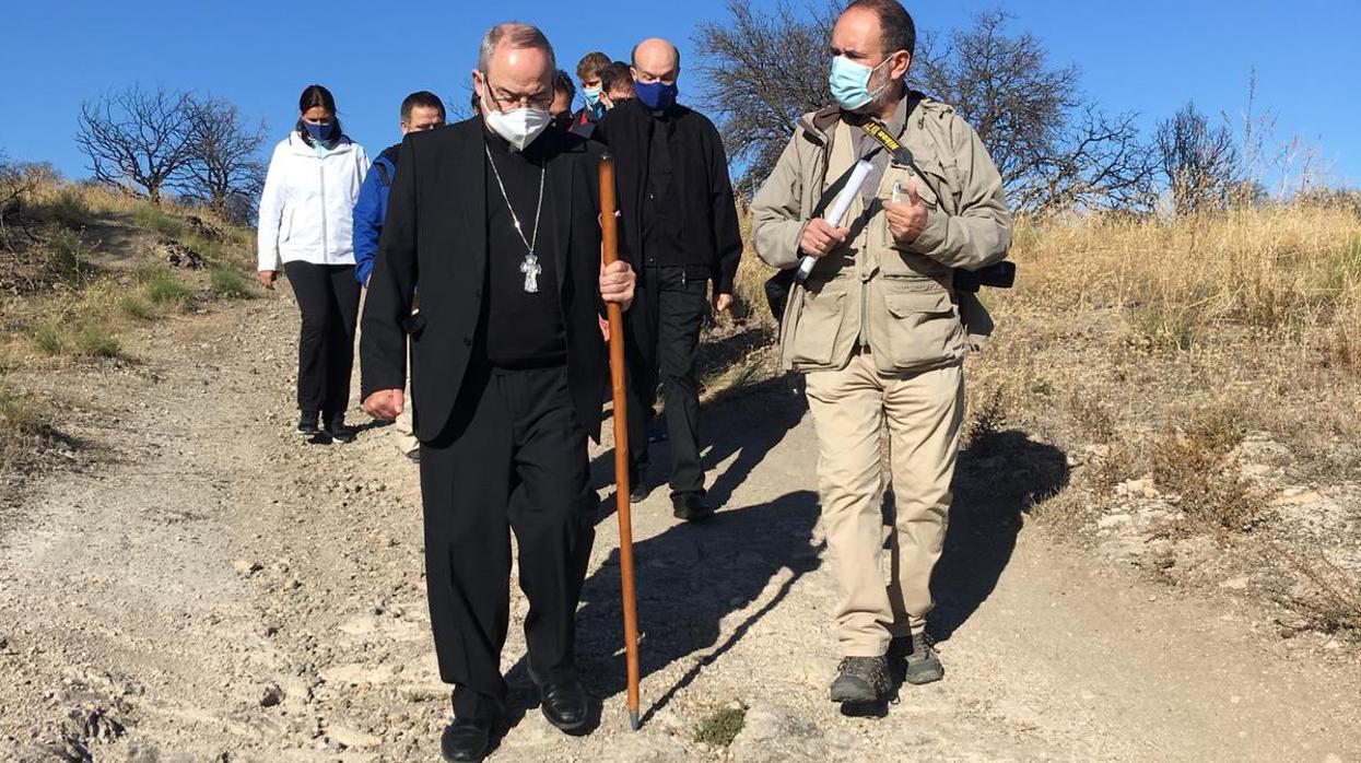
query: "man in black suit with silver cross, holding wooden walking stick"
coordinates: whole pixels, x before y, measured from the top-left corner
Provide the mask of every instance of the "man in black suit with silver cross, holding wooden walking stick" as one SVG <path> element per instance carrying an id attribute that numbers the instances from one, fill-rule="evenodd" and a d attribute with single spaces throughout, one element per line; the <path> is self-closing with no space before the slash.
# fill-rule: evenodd
<path id="1" fill-rule="evenodd" d="M 574 635 L 596 507 L 597 318 L 606 302 L 627 307 L 634 279 L 600 265 L 599 152 L 544 129 L 555 71 L 538 29 L 487 31 L 472 73 L 482 114 L 401 144 L 363 313 L 376 418 L 401 411 L 411 337 L 430 622 L 455 685 L 449 760 L 482 759 L 502 711 L 512 529 L 543 714 L 568 732 L 587 722 Z"/>

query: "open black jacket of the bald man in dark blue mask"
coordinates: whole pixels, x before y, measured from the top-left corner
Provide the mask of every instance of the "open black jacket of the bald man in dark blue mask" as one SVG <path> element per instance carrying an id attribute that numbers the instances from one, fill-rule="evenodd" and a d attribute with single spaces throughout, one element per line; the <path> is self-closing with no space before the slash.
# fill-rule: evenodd
<path id="1" fill-rule="evenodd" d="M 708 117 L 685 106 L 672 106 L 668 118 L 675 131 L 671 139 L 672 171 L 685 194 L 678 200 L 686 234 L 685 264 L 708 265 L 715 291 L 732 294 L 732 280 L 742 258 L 742 234 L 723 139 Z M 651 122 L 648 107 L 630 98 L 606 112 L 592 135 L 614 155 L 619 211 L 623 215 L 625 252 L 621 256 L 629 258 L 640 277 L 646 257 L 642 252 L 642 197 L 646 193 Z"/>

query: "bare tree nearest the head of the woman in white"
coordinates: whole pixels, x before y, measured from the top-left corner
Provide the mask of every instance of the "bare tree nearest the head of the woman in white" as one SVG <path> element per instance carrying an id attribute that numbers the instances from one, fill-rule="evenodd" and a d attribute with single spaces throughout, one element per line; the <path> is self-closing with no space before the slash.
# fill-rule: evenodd
<path id="1" fill-rule="evenodd" d="M 237 106 L 222 98 L 189 97 L 185 101 L 189 158 L 170 185 L 185 199 L 220 215 L 245 214 L 264 188 L 265 163 L 260 146 L 264 122 L 249 124 Z M 248 204 L 241 204 L 249 200 Z"/>

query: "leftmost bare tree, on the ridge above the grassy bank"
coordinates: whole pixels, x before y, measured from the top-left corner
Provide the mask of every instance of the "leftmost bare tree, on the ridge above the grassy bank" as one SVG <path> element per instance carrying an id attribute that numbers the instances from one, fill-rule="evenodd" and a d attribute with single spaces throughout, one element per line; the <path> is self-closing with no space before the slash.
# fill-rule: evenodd
<path id="1" fill-rule="evenodd" d="M 154 204 L 191 159 L 189 97 L 132 86 L 80 103 L 76 144 L 105 185 Z"/>

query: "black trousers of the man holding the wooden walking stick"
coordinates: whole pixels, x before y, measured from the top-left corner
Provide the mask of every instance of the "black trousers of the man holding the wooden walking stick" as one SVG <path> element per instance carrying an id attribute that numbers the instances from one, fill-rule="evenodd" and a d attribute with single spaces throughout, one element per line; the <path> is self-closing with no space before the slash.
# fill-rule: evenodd
<path id="1" fill-rule="evenodd" d="M 566 369 L 470 367 L 449 426 L 421 446 L 421 494 L 430 624 L 455 714 L 485 718 L 505 702 L 510 530 L 529 666 L 542 681 L 573 680 L 596 496 Z"/>

